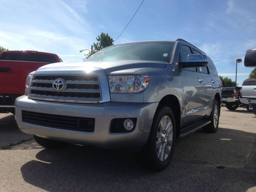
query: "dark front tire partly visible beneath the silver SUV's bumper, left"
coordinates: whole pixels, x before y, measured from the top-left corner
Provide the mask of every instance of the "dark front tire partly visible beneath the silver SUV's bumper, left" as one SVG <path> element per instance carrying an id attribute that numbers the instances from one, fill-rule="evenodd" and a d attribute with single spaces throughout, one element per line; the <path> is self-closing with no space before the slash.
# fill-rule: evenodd
<path id="1" fill-rule="evenodd" d="M 45 148 L 52 148 L 52 149 L 56 149 L 56 148 L 64 148 L 69 146 L 69 143 L 63 142 L 63 141 L 55 141 L 55 140 L 51 140 L 51 139 L 46 139 L 46 138 L 42 138 L 42 137 L 38 137 L 36 135 L 34 135 L 34 139 L 35 141 L 45 147 Z"/>

